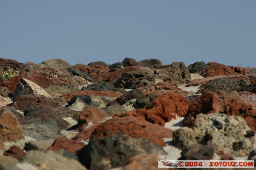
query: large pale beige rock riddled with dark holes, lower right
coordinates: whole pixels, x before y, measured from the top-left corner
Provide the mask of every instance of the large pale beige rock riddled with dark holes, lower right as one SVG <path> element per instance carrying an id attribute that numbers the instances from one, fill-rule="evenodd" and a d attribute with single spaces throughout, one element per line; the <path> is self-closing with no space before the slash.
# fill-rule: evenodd
<path id="1" fill-rule="evenodd" d="M 194 144 L 213 144 L 232 156 L 246 156 L 255 146 L 254 137 L 242 117 L 225 114 L 199 114 L 193 128 L 182 127 L 173 132 L 172 143 L 179 149 Z"/>

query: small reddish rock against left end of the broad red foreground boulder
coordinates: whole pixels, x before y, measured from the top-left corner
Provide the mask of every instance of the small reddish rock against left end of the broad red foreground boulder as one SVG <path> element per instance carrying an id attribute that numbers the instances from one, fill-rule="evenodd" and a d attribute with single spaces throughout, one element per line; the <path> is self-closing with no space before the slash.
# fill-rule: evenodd
<path id="1" fill-rule="evenodd" d="M 100 122 L 93 122 L 94 124 L 89 128 L 84 128 L 84 126 L 79 127 L 77 130 L 80 131 L 76 136 L 72 138 L 72 140 L 81 141 L 81 140 L 89 140 L 92 132 L 97 128 Z"/>

